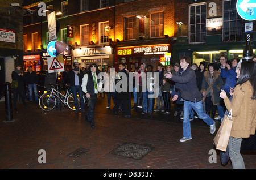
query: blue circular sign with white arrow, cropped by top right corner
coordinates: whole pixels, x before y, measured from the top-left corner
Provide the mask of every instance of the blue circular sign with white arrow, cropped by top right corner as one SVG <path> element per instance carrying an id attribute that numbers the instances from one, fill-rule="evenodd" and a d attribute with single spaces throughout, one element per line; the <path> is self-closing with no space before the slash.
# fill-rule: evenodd
<path id="1" fill-rule="evenodd" d="M 237 12 L 245 20 L 256 19 L 256 1 L 255 0 L 238 0 Z"/>

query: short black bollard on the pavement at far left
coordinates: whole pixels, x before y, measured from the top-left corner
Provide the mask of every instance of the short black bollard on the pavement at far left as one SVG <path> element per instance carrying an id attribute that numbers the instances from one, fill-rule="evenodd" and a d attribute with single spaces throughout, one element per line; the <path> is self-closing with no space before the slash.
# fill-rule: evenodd
<path id="1" fill-rule="evenodd" d="M 5 83 L 5 115 L 6 121 L 13 120 L 13 104 L 11 103 L 11 84 Z"/>

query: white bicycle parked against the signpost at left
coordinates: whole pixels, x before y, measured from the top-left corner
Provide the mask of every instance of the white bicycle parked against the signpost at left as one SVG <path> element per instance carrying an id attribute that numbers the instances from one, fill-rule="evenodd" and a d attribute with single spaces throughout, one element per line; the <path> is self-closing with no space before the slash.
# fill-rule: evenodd
<path id="1" fill-rule="evenodd" d="M 77 97 L 78 96 L 79 95 L 77 95 Z M 64 98 L 64 100 L 63 100 L 63 98 Z M 84 98 L 84 96 L 83 96 L 83 98 Z M 55 108 L 55 106 L 57 104 L 57 99 L 59 99 L 62 102 L 63 106 L 68 105 L 68 108 L 70 108 L 72 110 L 76 110 L 75 105 L 74 105 L 73 93 L 71 92 L 71 88 L 69 88 L 69 87 L 67 88 L 67 92 L 65 93 L 65 95 L 63 95 L 62 93 L 57 91 L 54 86 L 52 86 L 50 92 L 46 92 L 42 96 L 40 96 L 39 101 L 38 101 L 39 106 L 44 111 L 50 111 Z M 79 100 L 79 105 L 80 105 L 80 98 L 78 98 L 78 100 Z M 81 109 L 81 108 L 79 108 L 79 109 Z"/>

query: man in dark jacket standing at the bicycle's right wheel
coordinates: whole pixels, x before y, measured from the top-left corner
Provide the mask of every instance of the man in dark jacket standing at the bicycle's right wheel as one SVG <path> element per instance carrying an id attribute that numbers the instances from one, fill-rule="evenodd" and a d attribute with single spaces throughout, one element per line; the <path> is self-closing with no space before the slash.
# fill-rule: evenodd
<path id="1" fill-rule="evenodd" d="M 80 98 L 80 106 L 82 113 L 85 113 L 85 104 L 84 104 L 84 98 L 82 94 L 82 78 L 84 78 L 84 73 L 79 69 L 79 63 L 74 62 L 73 68 L 68 72 L 67 76 L 65 78 L 69 79 L 71 91 L 74 97 L 74 105 L 75 105 L 75 113 L 79 112 L 79 102 L 77 99 L 77 95 L 79 95 Z M 64 82 L 67 82 L 67 79 L 64 80 Z"/>

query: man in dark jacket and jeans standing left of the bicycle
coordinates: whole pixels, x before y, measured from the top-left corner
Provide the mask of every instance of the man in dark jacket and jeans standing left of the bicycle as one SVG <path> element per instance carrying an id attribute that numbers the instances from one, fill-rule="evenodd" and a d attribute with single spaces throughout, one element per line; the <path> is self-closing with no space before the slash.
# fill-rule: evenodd
<path id="1" fill-rule="evenodd" d="M 26 87 L 28 87 L 28 91 L 30 93 L 30 102 L 33 101 L 33 91 L 35 95 L 35 101 L 38 101 L 38 88 L 36 84 L 38 84 L 38 74 L 35 71 L 32 71 L 32 67 L 27 67 L 28 72 L 25 76 Z"/>

